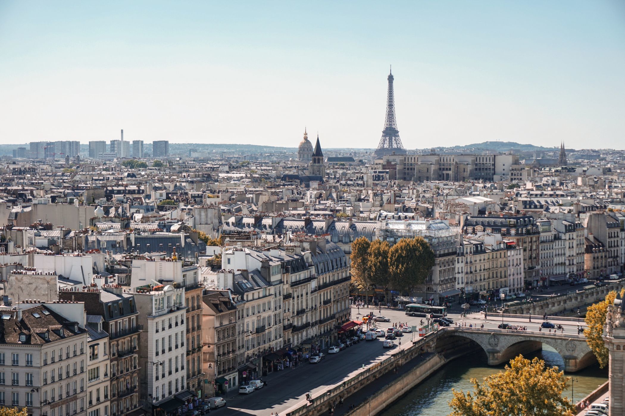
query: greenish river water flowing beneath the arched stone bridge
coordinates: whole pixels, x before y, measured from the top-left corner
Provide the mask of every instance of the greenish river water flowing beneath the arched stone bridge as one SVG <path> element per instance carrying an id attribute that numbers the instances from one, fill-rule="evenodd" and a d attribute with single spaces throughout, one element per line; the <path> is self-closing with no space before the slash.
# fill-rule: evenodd
<path id="1" fill-rule="evenodd" d="M 560 354 L 544 344 L 542 351 L 529 354 L 526 358 L 532 359 L 533 357 L 543 359 L 547 365 L 557 365 L 559 368 L 564 368 L 564 360 Z M 382 416 L 448 415 L 451 412 L 449 401 L 453 397 L 451 389 L 462 390 L 463 392 L 472 391 L 472 378 L 482 381 L 484 377 L 499 372 L 504 366 L 505 364 L 488 365 L 486 354 L 483 352 L 455 359 L 384 410 Z M 607 381 L 607 369 L 599 369 L 598 364 L 566 375 L 577 379 L 577 382 L 574 383 L 574 400 L 576 402 Z M 570 387 L 568 390 L 564 390 L 562 394 L 567 395 L 570 399 Z"/>

